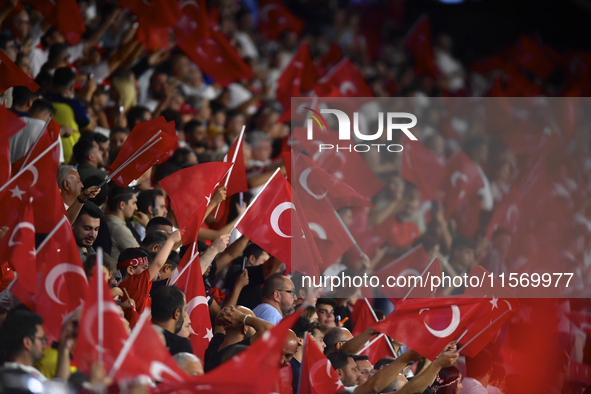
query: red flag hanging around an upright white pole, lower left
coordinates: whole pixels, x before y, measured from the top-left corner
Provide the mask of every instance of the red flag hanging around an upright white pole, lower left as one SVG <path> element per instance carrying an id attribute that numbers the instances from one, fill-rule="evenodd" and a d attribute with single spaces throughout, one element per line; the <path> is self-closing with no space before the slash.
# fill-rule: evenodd
<path id="1" fill-rule="evenodd" d="M 99 303 L 99 300 L 102 302 Z M 123 349 L 123 344 L 127 340 L 127 330 L 121 320 L 120 310 L 113 301 L 102 267 L 96 265 L 86 291 L 74 348 L 76 367 L 86 376 L 90 376 L 92 364 L 98 361 L 100 320 L 103 324 L 100 334 L 103 338 L 103 362 L 107 373 Z"/>

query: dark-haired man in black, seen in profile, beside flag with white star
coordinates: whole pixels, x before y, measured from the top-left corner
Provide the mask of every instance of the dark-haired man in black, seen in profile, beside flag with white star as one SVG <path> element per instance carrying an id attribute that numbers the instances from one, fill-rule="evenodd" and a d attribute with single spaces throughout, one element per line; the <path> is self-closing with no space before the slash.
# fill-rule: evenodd
<path id="1" fill-rule="evenodd" d="M 163 286 L 152 296 L 152 323 L 162 330 L 166 347 L 173 356 L 182 352 L 193 354 L 191 342 L 177 335 L 183 328 L 186 313 L 187 300 L 177 287 Z"/>

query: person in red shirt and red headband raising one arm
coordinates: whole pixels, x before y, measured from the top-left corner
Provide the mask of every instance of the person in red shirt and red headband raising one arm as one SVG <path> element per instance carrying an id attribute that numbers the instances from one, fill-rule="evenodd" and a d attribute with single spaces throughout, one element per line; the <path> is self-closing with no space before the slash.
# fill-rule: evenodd
<path id="1" fill-rule="evenodd" d="M 168 255 L 176 246 L 175 244 L 180 241 L 180 232 L 172 233 L 152 262 L 150 262 L 150 251 L 146 249 L 130 248 L 119 255 L 117 269 L 121 272 L 122 277 L 119 287 L 124 291 L 127 290 L 129 298 L 135 301 L 138 313 L 142 313 L 145 307 L 151 306 L 152 281 L 166 263 Z M 127 295 L 123 298 L 123 301 L 125 300 L 127 300 Z"/>

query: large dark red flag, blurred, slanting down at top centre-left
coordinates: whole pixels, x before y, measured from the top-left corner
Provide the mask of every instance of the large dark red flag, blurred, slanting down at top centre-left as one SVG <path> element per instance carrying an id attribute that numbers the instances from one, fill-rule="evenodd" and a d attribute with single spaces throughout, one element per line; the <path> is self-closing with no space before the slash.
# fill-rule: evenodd
<path id="1" fill-rule="evenodd" d="M 199 9 L 204 9 L 204 5 L 199 4 L 201 4 Z M 183 23 L 194 27 L 195 33 L 185 36 L 184 39 L 179 39 L 177 46 L 203 73 L 213 78 L 222 87 L 242 79 L 250 80 L 252 70 L 240 57 L 236 48 L 230 44 L 220 31 L 211 26 L 207 26 L 204 33 L 202 30 L 203 18 L 198 17 L 198 15 L 194 10 L 190 14 L 183 15 L 183 18 L 186 17 Z M 179 27 L 175 31 L 178 31 L 178 29 Z M 183 30 L 184 34 L 186 34 L 187 29 L 184 28 Z"/>

